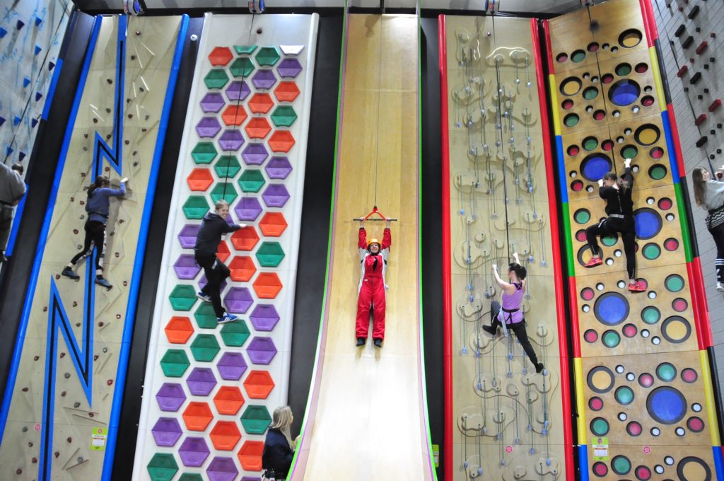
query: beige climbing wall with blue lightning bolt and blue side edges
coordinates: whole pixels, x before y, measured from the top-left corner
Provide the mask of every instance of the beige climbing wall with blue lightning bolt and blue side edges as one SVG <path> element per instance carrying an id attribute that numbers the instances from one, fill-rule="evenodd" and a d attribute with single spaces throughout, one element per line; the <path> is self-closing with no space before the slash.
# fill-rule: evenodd
<path id="1" fill-rule="evenodd" d="M 187 23 L 116 16 L 93 24 L 0 411 L 2 480 L 109 479 Z M 85 188 L 101 173 L 116 187 L 130 179 L 125 198 L 111 200 L 104 258 L 111 290 L 93 283 L 95 254 L 77 267 L 80 282 L 59 275 L 83 246 Z"/>

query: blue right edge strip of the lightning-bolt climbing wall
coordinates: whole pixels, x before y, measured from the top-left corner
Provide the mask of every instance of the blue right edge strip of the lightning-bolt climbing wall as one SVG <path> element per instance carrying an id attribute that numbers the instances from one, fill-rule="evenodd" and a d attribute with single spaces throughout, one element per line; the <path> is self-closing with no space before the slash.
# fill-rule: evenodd
<path id="1" fill-rule="evenodd" d="M 161 156 L 164 151 L 166 133 L 169 127 L 169 118 L 171 116 L 171 108 L 173 106 L 179 66 L 181 64 L 186 32 L 188 31 L 188 23 L 188 15 L 182 15 L 179 33 L 176 38 L 176 49 L 174 51 L 174 58 L 171 64 L 171 72 L 169 74 L 169 83 L 166 89 L 166 97 L 164 99 L 164 107 L 161 111 L 159 133 L 156 137 L 156 147 L 153 151 L 153 164 L 151 165 L 151 172 L 148 177 L 146 204 L 143 206 L 143 217 L 141 219 L 139 229 L 138 246 L 136 248 L 136 255 L 133 261 L 133 274 L 129 287 L 128 305 L 126 309 L 125 323 L 123 326 L 123 337 L 121 340 L 118 370 L 116 373 L 116 387 L 114 389 L 113 403 L 111 404 L 111 418 L 109 420 L 109 433 L 108 438 L 106 439 L 106 456 L 104 458 L 101 481 L 109 481 L 113 472 L 113 461 L 115 457 L 116 443 L 118 440 L 118 424 L 121 415 L 121 404 L 123 402 L 123 391 L 125 388 L 125 379 L 128 369 L 128 357 L 130 356 L 135 311 L 138 307 L 138 290 L 140 288 L 140 277 L 143 272 L 143 257 L 146 254 L 146 243 L 148 241 L 148 226 L 151 223 L 153 200 L 156 196 L 156 183 L 159 178 Z"/>

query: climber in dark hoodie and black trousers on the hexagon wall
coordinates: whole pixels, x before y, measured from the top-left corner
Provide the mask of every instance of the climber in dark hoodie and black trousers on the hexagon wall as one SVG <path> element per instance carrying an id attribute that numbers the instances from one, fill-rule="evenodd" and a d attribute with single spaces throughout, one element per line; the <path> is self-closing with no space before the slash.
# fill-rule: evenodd
<path id="1" fill-rule="evenodd" d="M 222 283 L 229 277 L 231 271 L 216 257 L 216 251 L 219 249 L 222 235 L 246 227 L 245 224 L 230 224 L 226 220 L 228 215 L 229 203 L 223 200 L 216 202 L 216 210 L 207 212 L 203 216 L 193 247 L 196 264 L 201 266 L 206 275 L 206 285 L 196 293 L 196 296 L 214 306 L 216 321 L 219 324 L 235 321 L 237 317 L 227 313 L 222 307 Z"/>

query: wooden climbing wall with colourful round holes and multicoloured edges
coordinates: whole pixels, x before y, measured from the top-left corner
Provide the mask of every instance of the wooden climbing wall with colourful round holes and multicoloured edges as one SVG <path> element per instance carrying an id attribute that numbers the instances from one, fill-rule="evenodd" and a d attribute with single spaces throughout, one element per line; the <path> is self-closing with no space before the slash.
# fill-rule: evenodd
<path id="1" fill-rule="evenodd" d="M 645 4 L 646 2 L 642 2 Z M 597 479 L 723 479 L 702 335 L 681 159 L 649 20 L 613 0 L 547 25 L 568 254 L 581 471 Z M 605 217 L 597 181 L 633 159 L 636 277 L 617 237 L 591 257 L 584 230 Z M 675 353 L 675 354 L 673 354 Z M 712 448 L 713 446 L 713 448 Z"/>

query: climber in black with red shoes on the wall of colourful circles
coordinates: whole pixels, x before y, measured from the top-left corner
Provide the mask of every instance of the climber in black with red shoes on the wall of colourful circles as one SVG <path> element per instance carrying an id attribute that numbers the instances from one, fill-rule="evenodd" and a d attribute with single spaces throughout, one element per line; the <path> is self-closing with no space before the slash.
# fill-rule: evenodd
<path id="1" fill-rule="evenodd" d="M 586 262 L 585 267 L 595 267 L 603 263 L 601 250 L 598 246 L 598 235 L 620 233 L 623 241 L 623 251 L 626 253 L 626 271 L 628 272 L 628 290 L 642 292 L 646 284 L 636 280 L 636 223 L 633 219 L 633 175 L 631 174 L 631 159 L 624 161 L 624 172 L 618 177 L 616 172 L 608 172 L 598 181 L 598 194 L 606 201 L 607 218 L 597 225 L 586 229 L 586 242 L 591 248 L 592 258 Z"/>

